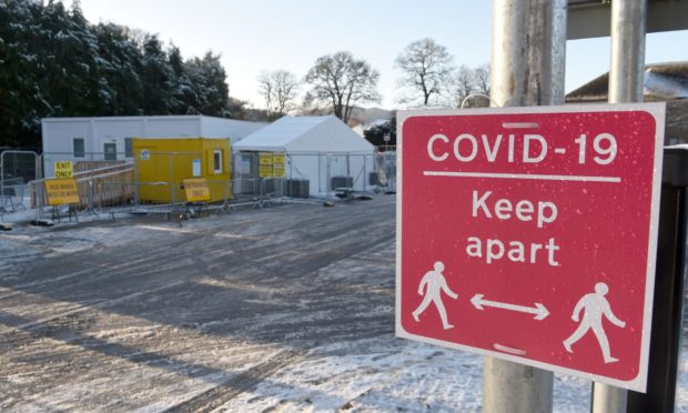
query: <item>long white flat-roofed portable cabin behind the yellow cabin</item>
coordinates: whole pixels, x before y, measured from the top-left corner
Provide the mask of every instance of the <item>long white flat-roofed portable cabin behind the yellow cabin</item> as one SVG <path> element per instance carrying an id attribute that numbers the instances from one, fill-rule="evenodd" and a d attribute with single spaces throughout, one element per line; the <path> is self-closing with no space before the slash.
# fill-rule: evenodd
<path id="1" fill-rule="evenodd" d="M 229 138 L 234 144 L 263 127 L 205 115 L 45 118 L 44 175 L 52 177 L 55 161 L 132 161 L 133 138 Z"/>

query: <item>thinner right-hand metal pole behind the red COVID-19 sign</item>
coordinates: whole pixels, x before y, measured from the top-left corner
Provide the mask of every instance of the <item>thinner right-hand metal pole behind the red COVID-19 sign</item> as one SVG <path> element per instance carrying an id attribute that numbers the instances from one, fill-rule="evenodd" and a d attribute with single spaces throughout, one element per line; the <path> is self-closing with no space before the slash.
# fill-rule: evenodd
<path id="1" fill-rule="evenodd" d="M 609 103 L 643 101 L 647 0 L 611 1 Z M 628 391 L 593 384 L 593 413 L 623 413 Z"/>

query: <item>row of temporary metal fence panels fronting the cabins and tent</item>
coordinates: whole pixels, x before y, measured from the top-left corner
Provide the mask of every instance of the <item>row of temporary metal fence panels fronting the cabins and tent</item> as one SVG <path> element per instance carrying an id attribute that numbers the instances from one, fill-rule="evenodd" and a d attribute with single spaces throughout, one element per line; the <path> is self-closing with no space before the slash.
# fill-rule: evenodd
<path id="1" fill-rule="evenodd" d="M 131 154 L 130 154 L 131 155 Z M 135 157 L 140 157 L 136 154 Z M 261 155 L 263 159 L 261 159 Z M 20 161 L 17 157 L 27 157 Z M 108 157 L 108 160 L 104 160 Z M 269 202 L 294 199 L 331 199 L 338 189 L 352 192 L 393 192 L 395 152 L 382 153 L 289 153 L 271 154 L 267 164 L 264 153 L 239 152 L 232 155 L 230 172 L 200 164 L 196 152 L 145 153 L 145 159 L 128 158 L 125 153 L 10 153 L 3 152 L 0 184 L 9 193 L 26 189 L 27 208 L 42 218 L 49 206 L 44 181 L 54 177 L 58 162 L 73 164 L 73 179 L 79 190 L 79 203 L 70 208 L 79 212 L 108 211 L 175 212 L 189 208 L 183 180 L 202 178 L 211 194 L 208 209 L 231 209 L 237 205 L 263 206 Z M 12 159 L 10 163 L 8 160 Z M 263 162 L 263 164 L 261 163 Z M 19 164 L 31 164 L 18 173 Z M 11 171 L 11 172 L 9 172 Z M 217 172 L 217 173 L 216 173 Z M 21 175 L 22 183 L 12 181 Z M 3 192 L 3 193 L 6 193 Z M 3 197 L 4 210 L 10 210 Z M 16 202 L 16 200 L 13 201 Z M 17 203 L 12 204 L 14 209 Z M 0 213 L 2 210 L 0 210 Z"/>

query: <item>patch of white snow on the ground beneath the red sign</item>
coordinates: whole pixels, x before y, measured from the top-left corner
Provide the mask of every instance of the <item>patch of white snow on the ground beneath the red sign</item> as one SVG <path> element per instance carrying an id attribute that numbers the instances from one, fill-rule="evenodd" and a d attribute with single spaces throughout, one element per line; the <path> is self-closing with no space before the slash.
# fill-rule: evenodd
<path id="1" fill-rule="evenodd" d="M 479 412 L 483 357 L 392 336 L 314 349 L 306 361 L 217 411 Z M 555 375 L 554 411 L 590 411 L 590 382 Z M 688 360 L 680 365 L 677 412 L 688 412 Z"/>

